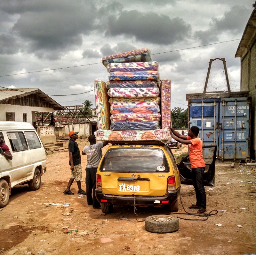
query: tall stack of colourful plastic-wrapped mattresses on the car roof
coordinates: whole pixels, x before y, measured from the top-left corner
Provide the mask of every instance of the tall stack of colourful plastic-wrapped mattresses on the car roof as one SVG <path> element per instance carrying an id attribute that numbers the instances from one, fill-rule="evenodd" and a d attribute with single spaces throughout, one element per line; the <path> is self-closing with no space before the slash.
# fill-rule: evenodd
<path id="1" fill-rule="evenodd" d="M 158 63 L 152 61 L 150 50 L 103 57 L 102 63 L 109 81 L 94 81 L 97 139 L 168 142 L 171 80 L 160 80 Z"/>

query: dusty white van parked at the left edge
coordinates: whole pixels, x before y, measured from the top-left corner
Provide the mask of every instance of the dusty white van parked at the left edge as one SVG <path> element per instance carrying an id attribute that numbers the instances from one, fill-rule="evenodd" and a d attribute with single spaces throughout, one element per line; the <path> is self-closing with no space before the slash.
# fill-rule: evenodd
<path id="1" fill-rule="evenodd" d="M 4 207 L 14 186 L 28 184 L 31 190 L 40 188 L 41 175 L 46 171 L 46 156 L 30 123 L 0 121 L 0 135 L 12 154 L 12 160 L 0 154 L 0 207 Z"/>

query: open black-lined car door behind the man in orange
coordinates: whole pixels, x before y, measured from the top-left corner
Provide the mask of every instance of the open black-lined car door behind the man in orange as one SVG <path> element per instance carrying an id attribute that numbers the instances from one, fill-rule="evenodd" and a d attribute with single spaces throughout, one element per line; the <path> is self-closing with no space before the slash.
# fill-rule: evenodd
<path id="1" fill-rule="evenodd" d="M 203 176 L 204 186 L 214 186 L 214 175 L 215 175 L 215 161 L 216 161 L 216 152 L 217 146 L 203 146 L 203 150 L 209 150 L 207 152 L 207 159 L 204 159 L 205 162 L 205 171 Z M 203 155 L 206 155 L 203 153 Z M 178 169 L 180 171 L 180 183 L 193 185 L 192 181 L 192 169 L 191 163 L 189 161 L 189 155 L 185 157 L 178 164 Z"/>

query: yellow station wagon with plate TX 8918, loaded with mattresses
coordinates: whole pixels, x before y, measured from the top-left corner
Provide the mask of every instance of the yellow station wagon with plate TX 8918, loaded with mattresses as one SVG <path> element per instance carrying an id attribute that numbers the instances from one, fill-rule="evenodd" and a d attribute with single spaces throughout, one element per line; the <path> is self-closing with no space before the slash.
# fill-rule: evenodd
<path id="1" fill-rule="evenodd" d="M 183 177 L 190 179 L 189 168 L 182 167 Z M 102 156 L 95 194 L 103 213 L 111 213 L 113 205 L 165 206 L 177 212 L 179 193 L 180 172 L 165 144 L 112 143 Z"/>

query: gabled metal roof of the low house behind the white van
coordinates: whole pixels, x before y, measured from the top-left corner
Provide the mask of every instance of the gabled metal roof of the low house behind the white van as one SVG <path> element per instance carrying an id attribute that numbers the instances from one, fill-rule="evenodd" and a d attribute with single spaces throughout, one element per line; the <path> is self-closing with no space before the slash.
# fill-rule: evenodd
<path id="1" fill-rule="evenodd" d="M 15 88 L 15 89 L 0 89 L 0 103 L 4 103 L 9 99 L 16 99 L 30 94 L 37 94 L 42 97 L 44 101 L 52 104 L 54 110 L 65 110 L 65 107 L 54 101 L 51 97 L 46 95 L 43 91 L 38 88 Z"/>

